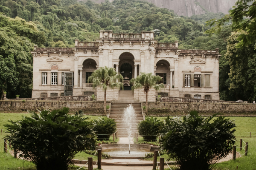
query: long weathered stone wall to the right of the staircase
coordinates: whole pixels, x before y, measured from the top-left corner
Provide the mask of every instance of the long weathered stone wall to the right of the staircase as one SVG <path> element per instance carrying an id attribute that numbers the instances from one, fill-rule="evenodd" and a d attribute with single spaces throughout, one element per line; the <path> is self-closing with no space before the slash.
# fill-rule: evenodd
<path id="1" fill-rule="evenodd" d="M 143 102 L 142 105 L 145 105 Z M 201 115 L 222 113 L 226 116 L 256 114 L 256 104 L 225 103 L 225 102 L 148 102 L 148 115 L 177 116 L 187 115 L 189 111 L 196 110 Z"/>

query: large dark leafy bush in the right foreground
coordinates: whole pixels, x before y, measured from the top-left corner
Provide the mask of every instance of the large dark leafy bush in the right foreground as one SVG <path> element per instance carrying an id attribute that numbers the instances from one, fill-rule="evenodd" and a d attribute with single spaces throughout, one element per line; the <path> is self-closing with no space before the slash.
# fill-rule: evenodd
<path id="1" fill-rule="evenodd" d="M 223 116 L 199 116 L 197 111 L 180 119 L 166 119 L 160 140 L 162 150 L 177 162 L 180 170 L 211 170 L 235 144 L 235 123 Z"/>

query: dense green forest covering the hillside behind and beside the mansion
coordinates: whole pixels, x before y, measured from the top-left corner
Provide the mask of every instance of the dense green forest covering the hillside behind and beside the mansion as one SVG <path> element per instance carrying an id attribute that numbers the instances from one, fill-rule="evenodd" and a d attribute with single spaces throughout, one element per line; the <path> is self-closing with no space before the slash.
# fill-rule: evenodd
<path id="1" fill-rule="evenodd" d="M 31 97 L 33 58 L 29 51 L 35 44 L 40 47 L 72 47 L 75 39 L 96 40 L 99 30 L 124 33 L 153 30 L 156 40 L 178 40 L 179 48 L 220 48 L 221 100 L 252 102 L 256 88 L 247 84 L 254 81 L 253 73 L 248 73 L 247 69 L 255 68 L 255 64 L 249 58 L 240 61 L 239 57 L 253 59 L 254 47 L 248 51 L 241 49 L 227 53 L 227 48 L 232 48 L 237 41 L 236 35 L 230 37 L 232 31 L 228 23 L 218 34 L 209 36 L 205 33 L 211 28 L 205 24 L 208 20 L 222 17 L 222 13 L 179 17 L 172 10 L 136 0 L 101 4 L 90 0 L 0 0 L 0 89 L 2 94 L 6 91 L 9 98 L 16 94 Z M 244 56 L 245 52 L 247 56 Z M 242 68 L 237 67 L 238 62 L 243 63 Z"/>

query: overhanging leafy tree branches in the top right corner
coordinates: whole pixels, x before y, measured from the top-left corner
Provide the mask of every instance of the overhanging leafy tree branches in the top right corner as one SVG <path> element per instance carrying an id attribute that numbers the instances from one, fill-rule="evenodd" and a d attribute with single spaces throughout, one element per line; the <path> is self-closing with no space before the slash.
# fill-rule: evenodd
<path id="1" fill-rule="evenodd" d="M 248 5 L 248 3 L 251 5 Z M 246 47 L 247 45 L 254 44 L 256 40 L 256 1 L 255 0 L 237 0 L 238 5 L 233 10 L 230 10 L 230 14 L 225 15 L 219 20 L 212 19 L 207 21 L 206 26 L 212 26 L 207 30 L 208 34 L 221 32 L 222 27 L 225 24 L 232 25 L 232 31 L 244 31 L 244 34 L 240 34 L 238 37 L 239 42 L 236 47 Z"/>

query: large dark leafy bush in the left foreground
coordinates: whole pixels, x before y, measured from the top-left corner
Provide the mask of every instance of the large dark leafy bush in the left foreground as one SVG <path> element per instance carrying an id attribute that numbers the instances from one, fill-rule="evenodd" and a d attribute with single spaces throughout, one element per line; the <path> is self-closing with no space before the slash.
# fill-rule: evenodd
<path id="1" fill-rule="evenodd" d="M 86 121 L 83 112 L 68 114 L 69 108 L 29 111 L 31 117 L 4 125 L 19 157 L 32 161 L 37 170 L 67 170 L 74 156 L 85 149 L 94 150 L 96 135 L 92 123 Z"/>

